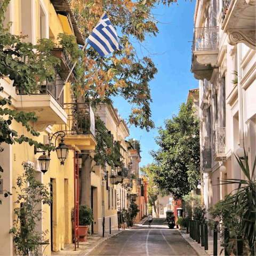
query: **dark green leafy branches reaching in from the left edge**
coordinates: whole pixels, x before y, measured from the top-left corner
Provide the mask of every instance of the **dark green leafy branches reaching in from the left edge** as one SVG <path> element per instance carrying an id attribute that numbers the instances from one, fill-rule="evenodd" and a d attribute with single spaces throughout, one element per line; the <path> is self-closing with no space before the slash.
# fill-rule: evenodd
<path id="1" fill-rule="evenodd" d="M 35 90 L 38 82 L 42 82 L 46 78 L 49 81 L 53 81 L 52 73 L 47 70 L 46 66 L 49 63 L 56 65 L 58 59 L 49 54 L 50 48 L 52 47 L 50 41 L 48 41 L 49 44 L 47 44 L 47 47 L 42 47 L 41 45 L 35 46 L 31 43 L 22 42 L 22 39 L 26 36 L 16 36 L 7 32 L 11 23 L 7 28 L 4 28 L 3 22 L 5 20 L 4 13 L 9 2 L 10 0 L 3 0 L 0 3 L 0 75 L 9 77 L 13 81 L 12 86 L 30 95 Z M 25 59 L 29 61 L 22 61 Z M 0 86 L 0 92 L 3 92 L 3 90 L 4 88 Z M 10 106 L 11 103 L 11 96 L 0 99 L 0 146 L 3 142 L 11 145 L 15 142 L 20 144 L 22 142 L 28 142 L 30 146 L 35 145 L 37 148 L 42 148 L 43 150 L 54 149 L 10 129 L 12 122 L 16 121 L 22 126 L 25 126 L 31 135 L 35 137 L 39 136 L 39 132 L 36 132 L 33 126 L 29 124 L 29 122 L 34 123 L 39 119 L 39 117 L 35 116 L 35 112 L 27 113 L 25 111 L 3 108 L 5 105 Z M 0 147 L 0 153 L 3 150 Z M 3 171 L 0 166 L 0 172 Z M 4 196 L 7 197 L 8 195 L 11 195 L 11 193 L 5 191 Z M 1 199 L 0 204 L 2 204 Z"/>

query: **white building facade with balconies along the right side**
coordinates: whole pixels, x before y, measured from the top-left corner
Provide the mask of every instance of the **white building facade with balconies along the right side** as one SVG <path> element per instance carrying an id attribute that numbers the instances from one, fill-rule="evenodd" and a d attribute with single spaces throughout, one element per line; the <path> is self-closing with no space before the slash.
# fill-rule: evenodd
<path id="1" fill-rule="evenodd" d="M 251 169 L 255 159 L 255 5 L 250 0 L 196 2 L 191 72 L 199 80 L 206 210 L 235 188 L 218 185 L 222 179 L 244 178 L 237 149 L 245 149 Z"/>

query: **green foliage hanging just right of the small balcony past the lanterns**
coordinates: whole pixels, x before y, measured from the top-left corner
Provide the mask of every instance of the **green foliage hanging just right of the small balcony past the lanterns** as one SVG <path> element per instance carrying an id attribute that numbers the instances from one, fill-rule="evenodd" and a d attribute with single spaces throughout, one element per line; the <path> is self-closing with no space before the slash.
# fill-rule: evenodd
<path id="1" fill-rule="evenodd" d="M 119 165 L 118 161 L 122 156 L 120 153 L 120 147 L 122 146 L 118 141 L 114 142 L 111 139 L 104 122 L 100 118 L 95 119 L 95 130 L 97 145 L 95 146 L 93 160 L 102 167 L 107 163 L 112 169 L 115 169 L 115 165 Z"/>

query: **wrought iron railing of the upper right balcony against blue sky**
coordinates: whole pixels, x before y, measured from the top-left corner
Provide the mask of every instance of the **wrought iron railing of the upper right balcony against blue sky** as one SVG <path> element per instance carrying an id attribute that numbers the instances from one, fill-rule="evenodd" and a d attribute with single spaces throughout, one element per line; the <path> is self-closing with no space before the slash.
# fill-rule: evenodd
<path id="1" fill-rule="evenodd" d="M 194 51 L 218 50 L 219 27 L 194 28 L 192 55 Z"/>

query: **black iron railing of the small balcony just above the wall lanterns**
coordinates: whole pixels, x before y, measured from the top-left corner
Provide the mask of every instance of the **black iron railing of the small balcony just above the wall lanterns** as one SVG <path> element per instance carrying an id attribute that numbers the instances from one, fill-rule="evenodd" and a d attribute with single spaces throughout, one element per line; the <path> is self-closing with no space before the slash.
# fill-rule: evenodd
<path id="1" fill-rule="evenodd" d="M 65 103 L 68 115 L 66 134 L 92 134 L 95 137 L 95 117 L 89 102 Z"/>

